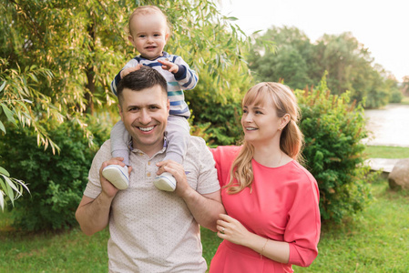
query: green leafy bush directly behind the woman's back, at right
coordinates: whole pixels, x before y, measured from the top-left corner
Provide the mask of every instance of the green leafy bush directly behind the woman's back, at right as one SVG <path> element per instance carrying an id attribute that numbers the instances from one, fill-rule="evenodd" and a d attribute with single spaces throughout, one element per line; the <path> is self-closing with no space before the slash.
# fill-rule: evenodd
<path id="1" fill-rule="evenodd" d="M 302 109 L 305 165 L 320 187 L 322 219 L 340 222 L 370 200 L 375 175 L 363 166 L 366 137 L 363 106 L 349 93 L 333 96 L 322 79 L 312 90 L 296 91 Z"/>

